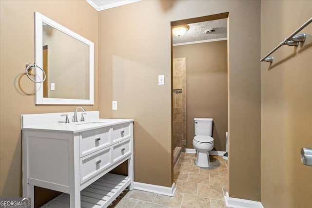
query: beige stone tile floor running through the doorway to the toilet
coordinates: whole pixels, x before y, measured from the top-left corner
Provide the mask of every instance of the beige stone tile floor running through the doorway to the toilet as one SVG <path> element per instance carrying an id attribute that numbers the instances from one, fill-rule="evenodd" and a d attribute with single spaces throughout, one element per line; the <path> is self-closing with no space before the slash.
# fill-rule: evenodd
<path id="1" fill-rule="evenodd" d="M 182 152 L 174 168 L 174 197 L 125 190 L 109 208 L 226 208 L 227 160 L 210 156 L 211 167 L 195 165 L 195 154 Z"/>

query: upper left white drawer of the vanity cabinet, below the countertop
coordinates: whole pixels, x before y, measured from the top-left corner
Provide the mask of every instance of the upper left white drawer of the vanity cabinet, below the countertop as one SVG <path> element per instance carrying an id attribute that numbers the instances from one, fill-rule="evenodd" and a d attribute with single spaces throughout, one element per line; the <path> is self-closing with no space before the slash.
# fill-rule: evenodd
<path id="1" fill-rule="evenodd" d="M 79 138 L 80 157 L 83 157 L 111 144 L 110 128 L 102 128 L 98 131 L 81 132 Z"/>

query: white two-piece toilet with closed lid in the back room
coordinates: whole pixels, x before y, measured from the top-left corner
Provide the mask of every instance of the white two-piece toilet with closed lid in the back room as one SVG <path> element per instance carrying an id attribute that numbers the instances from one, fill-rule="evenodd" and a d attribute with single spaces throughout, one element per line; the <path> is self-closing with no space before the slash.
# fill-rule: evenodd
<path id="1" fill-rule="evenodd" d="M 212 118 L 194 118 L 195 137 L 193 147 L 197 152 L 195 164 L 198 167 L 207 168 L 210 166 L 209 152 L 214 148 L 213 119 Z"/>

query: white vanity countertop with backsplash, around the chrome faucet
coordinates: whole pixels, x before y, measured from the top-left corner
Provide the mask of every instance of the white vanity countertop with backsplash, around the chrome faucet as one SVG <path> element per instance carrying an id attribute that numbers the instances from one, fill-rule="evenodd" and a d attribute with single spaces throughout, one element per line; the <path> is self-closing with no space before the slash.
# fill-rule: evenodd
<path id="1" fill-rule="evenodd" d="M 78 116 L 81 116 L 78 112 Z M 64 117 L 61 114 L 73 113 L 43 113 L 43 114 L 24 114 L 21 115 L 21 130 L 47 131 L 47 132 L 84 132 L 102 127 L 122 124 L 134 121 L 133 119 L 114 119 L 98 118 L 97 111 L 85 112 L 85 121 L 64 123 Z"/>

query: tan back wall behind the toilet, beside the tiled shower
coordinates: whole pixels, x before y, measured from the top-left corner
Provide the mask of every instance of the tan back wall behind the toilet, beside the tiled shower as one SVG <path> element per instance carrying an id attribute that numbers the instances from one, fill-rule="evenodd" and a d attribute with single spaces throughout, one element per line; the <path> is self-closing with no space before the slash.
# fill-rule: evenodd
<path id="1" fill-rule="evenodd" d="M 227 41 L 173 47 L 173 57 L 186 57 L 186 148 L 193 149 L 194 118 L 213 118 L 217 151 L 226 151 L 228 131 Z"/>

